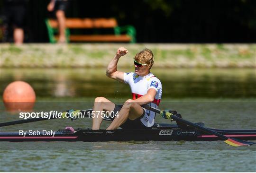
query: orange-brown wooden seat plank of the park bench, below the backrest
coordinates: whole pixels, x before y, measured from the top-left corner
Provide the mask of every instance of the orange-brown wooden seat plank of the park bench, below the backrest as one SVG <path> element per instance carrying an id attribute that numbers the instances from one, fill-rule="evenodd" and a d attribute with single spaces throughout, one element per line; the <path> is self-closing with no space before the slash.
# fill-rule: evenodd
<path id="1" fill-rule="evenodd" d="M 55 37 L 58 39 L 58 36 Z M 70 41 L 76 42 L 129 42 L 128 35 L 70 35 Z"/>

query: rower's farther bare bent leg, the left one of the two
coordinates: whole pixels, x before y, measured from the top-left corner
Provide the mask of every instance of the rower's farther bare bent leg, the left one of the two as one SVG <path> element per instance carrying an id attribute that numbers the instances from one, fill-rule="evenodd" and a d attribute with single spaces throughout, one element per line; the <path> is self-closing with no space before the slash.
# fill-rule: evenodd
<path id="1" fill-rule="evenodd" d="M 96 112 L 96 116 L 92 118 L 92 130 L 99 130 L 101 126 L 101 122 L 103 118 L 101 117 L 101 113 L 98 114 L 97 111 L 113 111 L 115 108 L 115 104 L 110 102 L 110 100 L 104 97 L 97 97 L 95 98 L 93 111 Z"/>

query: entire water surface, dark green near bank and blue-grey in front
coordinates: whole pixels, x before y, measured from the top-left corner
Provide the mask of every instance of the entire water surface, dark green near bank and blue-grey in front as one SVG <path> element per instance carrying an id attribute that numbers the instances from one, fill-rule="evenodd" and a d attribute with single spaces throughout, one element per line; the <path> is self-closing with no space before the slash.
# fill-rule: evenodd
<path id="1" fill-rule="evenodd" d="M 106 78 L 105 69 L 4 69 L 0 86 L 29 82 L 37 93 L 34 111 L 91 108 L 97 95 L 122 102 L 128 86 Z M 157 69 L 164 88 L 162 109 L 206 127 L 256 129 L 255 69 Z M 167 75 L 168 74 L 168 75 Z M 100 85 L 99 85 L 100 84 Z M 189 98 L 187 98 L 189 97 Z M 0 122 L 17 120 L 0 104 Z M 157 122 L 168 122 L 160 116 Z M 109 122 L 102 122 L 102 128 Z M 58 119 L 0 131 L 91 127 L 91 119 Z M 255 141 L 256 142 L 256 141 Z M 231 147 L 223 141 L 0 142 L 0 171 L 63 172 L 255 172 L 256 145 Z"/>

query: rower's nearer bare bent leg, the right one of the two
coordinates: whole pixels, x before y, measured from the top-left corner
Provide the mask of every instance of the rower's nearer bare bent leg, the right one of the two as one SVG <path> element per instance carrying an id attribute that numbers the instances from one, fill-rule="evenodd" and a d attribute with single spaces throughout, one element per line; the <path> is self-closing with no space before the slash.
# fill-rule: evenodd
<path id="1" fill-rule="evenodd" d="M 119 117 L 116 117 L 107 130 L 115 130 L 120 127 L 127 119 L 135 120 L 143 114 L 143 108 L 132 100 L 127 100 L 119 111 Z"/>

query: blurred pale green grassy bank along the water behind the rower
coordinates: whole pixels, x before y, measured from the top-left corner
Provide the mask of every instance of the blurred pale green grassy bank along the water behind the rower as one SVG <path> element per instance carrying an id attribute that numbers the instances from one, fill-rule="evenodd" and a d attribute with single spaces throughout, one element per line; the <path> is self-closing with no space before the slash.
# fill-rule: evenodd
<path id="1" fill-rule="evenodd" d="M 255 68 L 256 44 L 0 44 L 1 68 L 79 68 L 106 67 L 116 50 L 129 53 L 119 67 L 132 65 L 134 55 L 149 48 L 155 67 L 164 68 Z"/>

